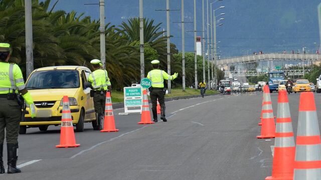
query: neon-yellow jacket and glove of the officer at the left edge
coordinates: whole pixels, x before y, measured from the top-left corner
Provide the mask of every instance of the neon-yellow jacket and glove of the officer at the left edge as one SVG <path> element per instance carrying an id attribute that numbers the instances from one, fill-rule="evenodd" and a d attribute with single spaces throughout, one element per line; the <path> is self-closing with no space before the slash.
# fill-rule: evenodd
<path id="1" fill-rule="evenodd" d="M 15 90 L 25 89 L 25 81 L 21 69 L 17 64 L 0 62 L 0 94 L 7 94 Z M 18 93 L 18 91 L 16 91 Z M 23 95 L 28 104 L 33 104 L 29 92 Z"/>

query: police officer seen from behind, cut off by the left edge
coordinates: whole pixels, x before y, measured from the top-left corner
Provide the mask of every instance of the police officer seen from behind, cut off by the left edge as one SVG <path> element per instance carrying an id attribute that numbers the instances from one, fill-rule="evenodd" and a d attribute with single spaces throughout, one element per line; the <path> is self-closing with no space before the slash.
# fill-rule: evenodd
<path id="1" fill-rule="evenodd" d="M 18 92 L 21 93 L 29 104 L 31 117 L 35 117 L 36 114 L 35 104 L 26 89 L 21 69 L 17 64 L 8 63 L 10 51 L 10 44 L 0 43 L 0 101 L 2 104 L 0 108 L 0 173 L 5 173 L 2 158 L 5 128 L 7 132 L 8 173 L 21 172 L 16 166 L 18 159 L 18 134 L 22 115 L 21 105 L 17 97 Z"/>

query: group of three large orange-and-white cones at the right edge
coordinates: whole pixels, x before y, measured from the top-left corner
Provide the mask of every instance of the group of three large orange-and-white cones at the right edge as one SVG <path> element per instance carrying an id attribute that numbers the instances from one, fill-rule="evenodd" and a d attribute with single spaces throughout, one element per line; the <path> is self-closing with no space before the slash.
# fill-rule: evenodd
<path id="1" fill-rule="evenodd" d="M 286 91 L 279 91 L 276 129 L 268 86 L 263 91 L 261 135 L 257 137 L 275 137 L 272 176 L 265 179 L 321 179 L 321 139 L 313 93 L 300 95 L 295 146 Z"/>

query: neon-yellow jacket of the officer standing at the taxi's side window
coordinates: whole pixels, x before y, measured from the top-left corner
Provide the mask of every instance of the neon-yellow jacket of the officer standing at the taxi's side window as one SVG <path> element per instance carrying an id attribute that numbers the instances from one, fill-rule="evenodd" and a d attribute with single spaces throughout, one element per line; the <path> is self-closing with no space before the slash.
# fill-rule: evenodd
<path id="1" fill-rule="evenodd" d="M 91 82 L 93 89 L 107 90 L 111 85 L 107 70 L 97 69 L 89 74 L 88 81 Z"/>

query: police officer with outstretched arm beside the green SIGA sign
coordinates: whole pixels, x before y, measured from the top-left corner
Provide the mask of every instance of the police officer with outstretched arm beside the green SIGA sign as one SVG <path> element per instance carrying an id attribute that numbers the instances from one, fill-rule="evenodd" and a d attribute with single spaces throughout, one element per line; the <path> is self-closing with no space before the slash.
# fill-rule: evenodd
<path id="1" fill-rule="evenodd" d="M 169 75 L 164 70 L 160 70 L 159 68 L 159 60 L 151 61 L 153 70 L 149 71 L 147 74 L 147 78 L 151 80 L 150 87 L 150 99 L 152 104 L 152 116 L 153 121 L 157 122 L 157 98 L 158 102 L 161 105 L 161 119 L 166 122 L 165 118 L 165 93 L 164 93 L 164 79 L 173 80 L 178 76 L 178 73 L 174 73 L 174 75 Z"/>

